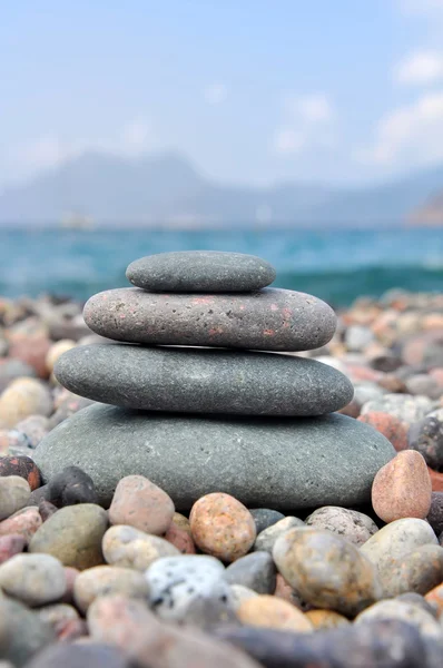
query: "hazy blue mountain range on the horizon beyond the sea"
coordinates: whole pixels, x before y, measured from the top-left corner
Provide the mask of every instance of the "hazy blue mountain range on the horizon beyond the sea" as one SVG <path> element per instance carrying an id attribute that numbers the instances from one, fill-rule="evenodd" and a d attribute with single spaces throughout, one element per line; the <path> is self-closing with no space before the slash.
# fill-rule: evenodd
<path id="1" fill-rule="evenodd" d="M 402 225 L 442 186 L 443 166 L 361 189 L 258 188 L 211 181 L 176 154 L 86 154 L 3 191 L 0 225 L 58 225 L 67 213 L 97 225 Z"/>

